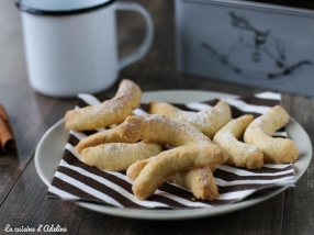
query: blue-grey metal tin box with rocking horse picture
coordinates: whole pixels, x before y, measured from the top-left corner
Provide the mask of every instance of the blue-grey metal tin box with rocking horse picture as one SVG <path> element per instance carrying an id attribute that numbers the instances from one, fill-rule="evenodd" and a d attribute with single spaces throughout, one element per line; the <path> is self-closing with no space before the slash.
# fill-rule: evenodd
<path id="1" fill-rule="evenodd" d="M 178 69 L 314 96 L 314 11 L 253 1 L 176 0 Z"/>

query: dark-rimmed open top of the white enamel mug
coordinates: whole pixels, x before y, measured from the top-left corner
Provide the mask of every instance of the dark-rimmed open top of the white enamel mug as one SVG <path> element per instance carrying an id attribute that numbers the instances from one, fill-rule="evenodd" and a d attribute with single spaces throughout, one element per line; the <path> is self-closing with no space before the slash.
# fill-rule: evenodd
<path id="1" fill-rule="evenodd" d="M 111 4 L 115 0 L 15 0 L 21 11 L 33 14 L 81 13 Z"/>

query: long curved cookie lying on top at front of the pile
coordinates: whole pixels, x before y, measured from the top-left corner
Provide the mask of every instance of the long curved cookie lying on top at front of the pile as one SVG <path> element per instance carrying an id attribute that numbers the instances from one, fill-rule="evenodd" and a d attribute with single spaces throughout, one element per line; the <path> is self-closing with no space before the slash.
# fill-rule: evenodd
<path id="1" fill-rule="evenodd" d="M 145 200 L 176 172 L 222 164 L 224 156 L 214 144 L 191 144 L 161 152 L 139 172 L 132 190 L 138 200 Z"/>

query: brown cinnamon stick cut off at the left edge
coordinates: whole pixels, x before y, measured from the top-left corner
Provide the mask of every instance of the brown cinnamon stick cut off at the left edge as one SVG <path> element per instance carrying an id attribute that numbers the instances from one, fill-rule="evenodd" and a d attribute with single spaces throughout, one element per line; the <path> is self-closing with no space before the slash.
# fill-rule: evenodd
<path id="1" fill-rule="evenodd" d="M 4 107 L 0 104 L 0 155 L 14 153 L 16 153 L 16 146 L 9 115 Z"/>

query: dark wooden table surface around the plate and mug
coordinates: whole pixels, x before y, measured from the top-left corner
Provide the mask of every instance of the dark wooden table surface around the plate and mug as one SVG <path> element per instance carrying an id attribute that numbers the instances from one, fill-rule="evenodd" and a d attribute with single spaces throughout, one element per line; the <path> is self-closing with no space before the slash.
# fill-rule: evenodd
<path id="1" fill-rule="evenodd" d="M 176 69 L 173 1 L 138 0 L 152 14 L 155 38 L 149 53 L 120 72 L 142 90 L 197 89 L 253 94 L 262 89 L 184 76 Z M 121 55 L 142 38 L 142 18 L 117 14 Z M 127 29 L 127 30 L 126 30 Z M 112 97 L 117 83 L 100 93 Z M 314 92 L 314 91 L 313 91 Z M 283 107 L 314 141 L 314 98 L 282 93 Z M 0 157 L 0 234 L 5 227 L 60 225 L 69 234 L 314 234 L 314 161 L 294 188 L 250 208 L 183 221 L 132 220 L 97 213 L 46 197 L 34 152 L 45 132 L 76 103 L 34 92 L 27 82 L 20 12 L 13 1 L 0 1 L 0 102 L 15 135 L 18 154 Z"/>

